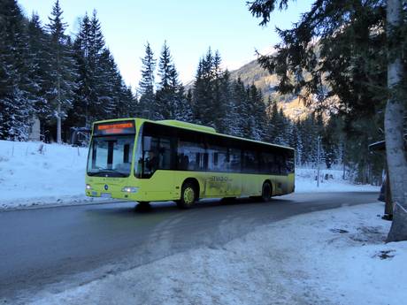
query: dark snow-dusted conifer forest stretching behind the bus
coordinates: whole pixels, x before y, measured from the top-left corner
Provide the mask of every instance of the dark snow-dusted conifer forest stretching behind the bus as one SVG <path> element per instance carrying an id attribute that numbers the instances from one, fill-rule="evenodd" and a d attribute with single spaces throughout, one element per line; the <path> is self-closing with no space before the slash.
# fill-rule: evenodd
<path id="1" fill-rule="evenodd" d="M 180 119 L 291 146 L 300 166 L 318 161 L 327 168 L 345 166 L 357 182 L 380 183 L 382 157 L 368 152 L 369 143 L 382 140 L 380 121 L 360 119 L 349 127 L 334 112 L 288 118 L 254 80 L 232 78 L 211 49 L 199 59 L 193 86 L 186 90 L 166 42 L 158 57 L 146 43 L 142 79 L 132 90 L 105 45 L 96 11 L 85 14 L 74 36 L 65 34 L 58 1 L 45 24 L 35 13 L 24 16 L 15 0 L 0 0 L 0 15 L 0 139 L 27 141 L 35 117 L 44 141 L 58 140 L 60 119 L 65 142 L 71 127 L 98 119 Z"/>

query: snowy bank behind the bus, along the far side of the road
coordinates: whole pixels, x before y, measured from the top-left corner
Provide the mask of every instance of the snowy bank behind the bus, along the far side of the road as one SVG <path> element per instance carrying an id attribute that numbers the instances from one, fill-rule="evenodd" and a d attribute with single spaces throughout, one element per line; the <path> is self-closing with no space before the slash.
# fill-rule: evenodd
<path id="1" fill-rule="evenodd" d="M 42 150 L 40 151 L 40 149 Z M 0 209 L 42 204 L 92 202 L 84 194 L 88 149 L 41 142 L 0 141 Z M 296 170 L 296 192 L 377 191 L 342 179 L 342 171 Z"/>

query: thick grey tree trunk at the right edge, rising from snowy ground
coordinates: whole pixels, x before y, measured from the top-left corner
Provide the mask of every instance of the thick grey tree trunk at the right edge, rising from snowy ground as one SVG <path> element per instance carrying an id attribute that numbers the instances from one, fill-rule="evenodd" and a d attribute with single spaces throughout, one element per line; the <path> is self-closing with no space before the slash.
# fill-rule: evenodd
<path id="1" fill-rule="evenodd" d="M 393 223 L 388 233 L 389 241 L 407 240 L 407 162 L 404 151 L 403 117 L 404 104 L 395 87 L 402 80 L 401 53 L 392 42 L 392 29 L 401 22 L 402 0 L 388 0 L 388 89 L 389 97 L 385 112 L 386 155 L 388 179 L 393 198 Z M 398 55 L 395 55 L 398 54 Z"/>

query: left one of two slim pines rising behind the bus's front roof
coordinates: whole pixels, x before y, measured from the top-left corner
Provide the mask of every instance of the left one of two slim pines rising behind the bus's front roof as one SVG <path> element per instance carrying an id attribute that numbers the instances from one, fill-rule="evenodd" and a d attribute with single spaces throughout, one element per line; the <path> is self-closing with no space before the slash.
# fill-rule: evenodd
<path id="1" fill-rule="evenodd" d="M 155 119 L 154 70 L 156 59 L 151 50 L 150 42 L 145 46 L 145 56 L 142 58 L 142 79 L 139 82 L 140 115 L 142 118 Z"/>

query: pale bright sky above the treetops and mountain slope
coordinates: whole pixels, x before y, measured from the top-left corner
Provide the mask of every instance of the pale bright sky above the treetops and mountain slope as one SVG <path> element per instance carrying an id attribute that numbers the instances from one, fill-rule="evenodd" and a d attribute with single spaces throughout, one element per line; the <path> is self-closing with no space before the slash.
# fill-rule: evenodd
<path id="1" fill-rule="evenodd" d="M 35 11 L 48 23 L 55 0 L 19 0 L 23 12 Z M 234 70 L 255 59 L 255 50 L 269 52 L 279 37 L 275 27 L 289 28 L 308 11 L 311 0 L 290 3 L 276 11 L 267 27 L 251 16 L 246 0 L 59 0 L 68 23 L 67 34 L 78 33 L 81 18 L 95 9 L 106 45 L 127 85 L 137 87 L 145 44 L 156 57 L 167 42 L 184 83 L 193 80 L 199 58 L 211 47 L 219 50 L 224 68 Z"/>

